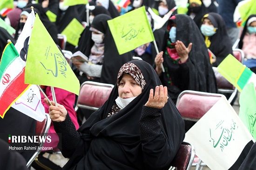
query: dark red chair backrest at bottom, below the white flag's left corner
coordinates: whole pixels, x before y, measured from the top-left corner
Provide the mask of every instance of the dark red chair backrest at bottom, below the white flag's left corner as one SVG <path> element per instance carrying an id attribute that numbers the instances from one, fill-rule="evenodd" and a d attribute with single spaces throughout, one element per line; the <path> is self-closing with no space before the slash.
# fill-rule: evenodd
<path id="1" fill-rule="evenodd" d="M 195 157 L 195 147 L 192 144 L 183 142 L 174 157 L 171 165 L 175 170 L 190 170 Z"/>

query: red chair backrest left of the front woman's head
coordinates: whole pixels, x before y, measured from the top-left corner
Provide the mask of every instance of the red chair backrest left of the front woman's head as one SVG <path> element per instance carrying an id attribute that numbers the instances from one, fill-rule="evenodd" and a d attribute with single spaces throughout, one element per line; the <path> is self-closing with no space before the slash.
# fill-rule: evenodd
<path id="1" fill-rule="evenodd" d="M 79 107 L 98 110 L 107 100 L 114 85 L 86 81 L 81 85 L 75 110 Z"/>

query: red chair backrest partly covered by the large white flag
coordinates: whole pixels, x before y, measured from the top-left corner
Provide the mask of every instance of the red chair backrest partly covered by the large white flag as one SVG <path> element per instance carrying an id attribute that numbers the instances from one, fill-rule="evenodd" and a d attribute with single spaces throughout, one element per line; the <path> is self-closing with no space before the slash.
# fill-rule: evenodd
<path id="1" fill-rule="evenodd" d="M 183 119 L 198 121 L 221 97 L 225 96 L 186 90 L 178 96 L 176 107 Z"/>

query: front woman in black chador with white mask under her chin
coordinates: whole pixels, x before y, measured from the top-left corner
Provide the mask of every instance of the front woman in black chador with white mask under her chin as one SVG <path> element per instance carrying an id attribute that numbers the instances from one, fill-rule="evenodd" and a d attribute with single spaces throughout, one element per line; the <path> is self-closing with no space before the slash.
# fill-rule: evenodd
<path id="1" fill-rule="evenodd" d="M 185 135 L 167 87 L 142 60 L 121 67 L 106 103 L 78 131 L 66 109 L 52 104 L 59 148 L 70 158 L 64 170 L 168 170 Z"/>

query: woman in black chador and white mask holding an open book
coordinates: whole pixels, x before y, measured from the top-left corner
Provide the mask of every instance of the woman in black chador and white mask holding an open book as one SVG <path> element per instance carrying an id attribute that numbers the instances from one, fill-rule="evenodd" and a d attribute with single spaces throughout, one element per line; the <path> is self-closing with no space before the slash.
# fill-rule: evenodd
<path id="1" fill-rule="evenodd" d="M 95 16 L 90 30 L 92 41 L 84 54 L 89 57 L 89 62 L 73 60 L 73 64 L 87 76 L 88 79 L 101 83 L 115 84 L 119 68 L 126 62 L 132 60 L 130 52 L 119 55 L 115 41 L 108 27 L 111 17 L 106 14 Z M 85 45 L 86 46 L 86 45 Z"/>

